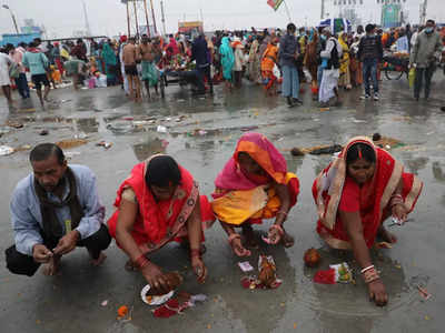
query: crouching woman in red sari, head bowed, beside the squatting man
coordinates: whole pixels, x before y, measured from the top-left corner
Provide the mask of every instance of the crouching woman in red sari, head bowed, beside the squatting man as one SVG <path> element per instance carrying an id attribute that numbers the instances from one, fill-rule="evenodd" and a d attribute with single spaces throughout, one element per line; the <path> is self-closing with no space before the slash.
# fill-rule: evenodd
<path id="1" fill-rule="evenodd" d="M 191 266 L 198 281 L 205 282 L 201 224 L 211 223 L 215 218 L 191 174 L 171 157 L 155 155 L 137 164 L 120 185 L 115 206 L 117 211 L 108 226 L 130 258 L 127 269 L 139 269 L 151 286 L 168 291 L 161 269 L 146 255 L 170 241 L 182 241 L 190 246 Z"/>

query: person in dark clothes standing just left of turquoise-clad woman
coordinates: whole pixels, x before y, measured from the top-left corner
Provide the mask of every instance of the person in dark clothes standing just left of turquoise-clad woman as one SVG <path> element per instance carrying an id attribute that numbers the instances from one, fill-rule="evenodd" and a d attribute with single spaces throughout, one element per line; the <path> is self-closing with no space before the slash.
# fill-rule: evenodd
<path id="1" fill-rule="evenodd" d="M 210 74 L 211 56 L 209 53 L 208 43 L 204 33 L 200 33 L 191 46 L 191 60 L 196 60 L 196 69 L 199 72 L 198 93 L 206 93 L 204 79 L 210 85 L 210 93 L 214 93 L 214 82 Z"/>

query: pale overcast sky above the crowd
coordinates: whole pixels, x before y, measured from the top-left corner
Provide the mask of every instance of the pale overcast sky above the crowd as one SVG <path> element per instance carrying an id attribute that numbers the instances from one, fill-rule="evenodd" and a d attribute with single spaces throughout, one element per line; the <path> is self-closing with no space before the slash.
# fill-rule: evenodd
<path id="1" fill-rule="evenodd" d="M 150 0 L 147 0 L 148 3 Z M 85 0 L 93 34 L 117 36 L 126 33 L 126 7 L 120 0 Z M 160 0 L 152 0 L 158 29 L 160 21 Z M 291 19 L 297 26 L 314 26 L 319 21 L 320 0 L 287 0 Z M 327 7 L 333 0 L 326 0 Z M 411 20 L 418 22 L 421 0 L 407 0 Z M 428 16 L 445 21 L 445 0 L 428 0 Z M 71 37 L 73 31 L 86 30 L 81 0 L 0 0 L 16 13 L 19 27 L 24 19 L 33 19 L 47 28 L 48 37 Z M 267 0 L 165 0 L 167 31 L 176 31 L 179 20 L 200 19 L 200 9 L 205 28 L 238 29 L 255 27 L 285 27 L 288 16 L 285 6 L 277 12 L 267 6 Z M 376 0 L 364 0 L 365 10 L 374 14 L 370 18 L 379 21 Z M 439 4 L 442 3 L 442 4 Z M 139 21 L 145 22 L 142 2 L 140 2 Z M 132 7 L 131 7 L 132 8 Z M 151 18 L 150 18 L 151 22 Z M 377 22 L 378 23 L 378 22 Z M 0 8 L 0 33 L 13 32 L 9 11 Z"/>

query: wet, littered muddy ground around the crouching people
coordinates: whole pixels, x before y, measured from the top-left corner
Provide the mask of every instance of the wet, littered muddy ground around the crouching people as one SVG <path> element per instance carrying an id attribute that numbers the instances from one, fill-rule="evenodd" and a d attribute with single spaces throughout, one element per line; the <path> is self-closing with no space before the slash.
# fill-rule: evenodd
<path id="1" fill-rule="evenodd" d="M 21 148 L 0 157 L 2 170 L 0 250 L 12 243 L 9 200 L 16 183 L 30 172 L 27 144 L 78 138 L 86 144 L 67 149 L 70 163 L 87 164 L 98 175 L 107 216 L 113 209 L 116 190 L 131 168 L 155 152 L 171 154 L 200 183 L 204 194 L 231 155 L 238 138 L 255 130 L 266 134 L 300 179 L 298 204 L 289 214 L 287 228 L 296 238 L 294 248 L 261 245 L 275 258 L 283 285 L 273 291 L 244 290 L 238 260 L 231 254 L 221 228 L 206 232 L 208 282 L 200 286 L 189 269 L 187 253 L 171 244 L 154 255 L 166 270 L 185 276 L 182 290 L 204 293 L 208 301 L 184 315 L 155 319 L 140 300 L 146 284 L 138 273 L 123 270 L 126 255 L 112 244 L 101 268 L 89 264 L 88 253 L 77 249 L 63 258 L 61 274 L 55 278 L 38 272 L 32 279 L 10 274 L 0 268 L 1 332 L 443 332 L 445 319 L 444 219 L 445 208 L 445 114 L 439 107 L 444 80 L 436 73 L 432 99 L 413 102 L 407 81 L 383 81 L 379 102 L 358 101 L 360 91 L 344 93 L 344 105 L 320 112 L 306 92 L 305 105 L 289 109 L 281 98 L 265 98 L 258 87 L 246 84 L 225 94 L 192 98 L 179 87 L 167 89 L 166 100 L 129 103 L 120 88 L 51 91 L 52 102 L 41 110 L 33 101 L 9 110 L 0 99 L 0 124 L 20 121 L 22 129 L 0 125 L 0 144 Z M 308 85 L 305 85 L 306 90 Z M 442 99 L 442 100 L 441 100 Z M 442 104 L 441 104 L 442 103 Z M 160 127 L 160 128 L 159 128 Z M 39 135 L 48 130 L 48 135 Z M 158 132 L 160 130 L 161 132 Z M 369 303 L 366 286 L 357 284 L 319 285 L 316 272 L 303 264 L 303 253 L 315 246 L 323 253 L 322 269 L 329 263 L 352 261 L 350 255 L 327 251 L 315 233 L 316 210 L 310 193 L 318 172 L 329 155 L 291 157 L 294 147 L 345 143 L 350 137 L 380 132 L 406 145 L 392 153 L 407 171 L 416 173 L 425 189 L 413 223 L 392 231 L 398 243 L 392 250 L 373 253 L 389 293 L 389 304 L 378 309 Z M 105 140 L 111 148 L 97 147 Z M 259 231 L 267 231 L 267 221 Z M 258 252 L 250 263 L 256 265 Z M 353 265 L 354 266 L 354 265 Z M 424 285 L 433 297 L 419 295 Z M 101 302 L 108 300 L 107 306 Z M 132 309 L 131 321 L 116 320 L 118 306 Z"/>

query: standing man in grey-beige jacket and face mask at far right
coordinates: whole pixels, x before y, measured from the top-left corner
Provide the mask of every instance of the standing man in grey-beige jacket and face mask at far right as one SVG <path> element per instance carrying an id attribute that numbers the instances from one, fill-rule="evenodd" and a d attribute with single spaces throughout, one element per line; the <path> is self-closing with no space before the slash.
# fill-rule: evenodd
<path id="1" fill-rule="evenodd" d="M 426 27 L 416 39 L 413 51 L 411 52 L 409 68 L 416 69 L 416 80 L 414 82 L 414 98 L 418 101 L 423 80 L 425 77 L 425 100 L 429 98 L 431 81 L 436 62 L 441 57 L 442 41 L 441 36 L 435 31 L 436 23 L 433 20 L 426 21 Z"/>

